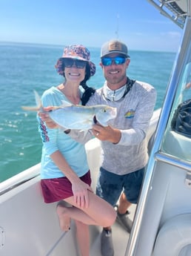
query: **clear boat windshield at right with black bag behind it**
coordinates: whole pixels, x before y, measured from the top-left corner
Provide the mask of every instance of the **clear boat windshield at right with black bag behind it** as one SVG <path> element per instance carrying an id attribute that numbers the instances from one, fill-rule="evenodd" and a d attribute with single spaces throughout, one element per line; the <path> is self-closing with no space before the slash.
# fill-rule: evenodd
<path id="1" fill-rule="evenodd" d="M 179 81 L 161 151 L 191 162 L 191 56 Z"/>

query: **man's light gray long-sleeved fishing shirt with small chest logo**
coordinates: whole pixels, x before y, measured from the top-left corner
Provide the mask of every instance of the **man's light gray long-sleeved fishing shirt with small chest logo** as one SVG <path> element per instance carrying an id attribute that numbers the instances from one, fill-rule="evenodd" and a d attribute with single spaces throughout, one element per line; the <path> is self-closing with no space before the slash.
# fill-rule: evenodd
<path id="1" fill-rule="evenodd" d="M 117 108 L 117 116 L 108 122 L 121 131 L 121 140 L 117 144 L 101 141 L 101 166 L 114 174 L 129 174 L 147 165 L 147 129 L 156 101 L 156 91 L 152 85 L 135 81 L 124 98 L 114 102 L 104 97 L 100 88 L 90 97 L 87 105 L 110 105 Z M 71 131 L 70 136 L 85 142 L 81 134 Z M 86 134 L 90 140 L 91 134 Z"/>

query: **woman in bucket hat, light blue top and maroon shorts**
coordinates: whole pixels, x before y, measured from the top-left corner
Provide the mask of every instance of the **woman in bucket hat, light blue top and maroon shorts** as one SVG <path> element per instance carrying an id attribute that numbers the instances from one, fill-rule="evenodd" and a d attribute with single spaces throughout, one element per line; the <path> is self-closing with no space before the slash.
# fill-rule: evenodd
<path id="1" fill-rule="evenodd" d="M 67 46 L 56 68 L 64 76 L 64 82 L 43 93 L 42 105 L 58 106 L 61 100 L 84 105 L 93 93 L 86 82 L 96 73 L 96 66 L 90 62 L 90 51 L 83 45 Z M 59 202 L 56 211 L 62 230 L 69 230 L 70 219 L 75 220 L 81 255 L 88 256 L 88 225 L 111 226 L 115 221 L 115 210 L 90 187 L 84 145 L 67 136 L 67 131 L 47 128 L 40 118 L 39 130 L 43 141 L 41 188 L 44 202 Z M 73 207 L 67 207 L 64 202 Z"/>

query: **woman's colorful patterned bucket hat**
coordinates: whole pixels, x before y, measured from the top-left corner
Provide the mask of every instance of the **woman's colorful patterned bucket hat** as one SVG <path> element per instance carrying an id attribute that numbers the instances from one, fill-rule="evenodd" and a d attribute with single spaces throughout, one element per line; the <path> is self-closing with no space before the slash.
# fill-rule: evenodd
<path id="1" fill-rule="evenodd" d="M 63 70 L 63 59 L 64 58 L 71 58 L 71 59 L 81 59 L 90 65 L 90 74 L 93 76 L 96 73 L 96 65 L 93 62 L 90 62 L 90 50 L 87 49 L 87 47 L 84 47 L 84 45 L 69 45 L 64 47 L 64 53 L 61 58 L 58 59 L 56 63 L 56 70 L 57 72 L 63 76 L 64 70 Z"/>

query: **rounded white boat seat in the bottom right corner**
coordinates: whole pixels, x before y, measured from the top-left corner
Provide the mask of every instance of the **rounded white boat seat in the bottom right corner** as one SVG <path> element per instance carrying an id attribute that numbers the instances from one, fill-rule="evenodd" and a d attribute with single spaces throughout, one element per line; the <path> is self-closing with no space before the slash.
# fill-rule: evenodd
<path id="1" fill-rule="evenodd" d="M 158 232 L 153 256 L 191 255 L 191 214 L 178 214 L 167 220 Z"/>

